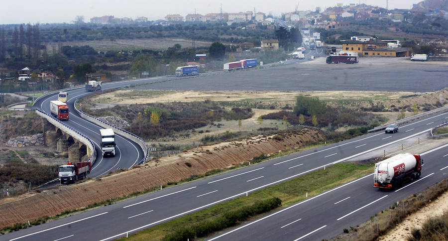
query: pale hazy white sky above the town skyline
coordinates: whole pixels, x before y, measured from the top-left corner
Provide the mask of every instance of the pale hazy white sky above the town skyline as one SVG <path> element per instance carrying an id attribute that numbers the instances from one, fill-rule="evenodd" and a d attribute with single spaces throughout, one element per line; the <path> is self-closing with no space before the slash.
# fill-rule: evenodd
<path id="1" fill-rule="evenodd" d="M 91 17 L 113 15 L 115 17 L 145 16 L 148 20 L 163 19 L 167 14 L 188 13 L 207 14 L 220 12 L 240 12 L 255 10 L 280 15 L 299 10 L 325 9 L 336 3 L 359 3 L 360 0 L 0 0 L 0 24 L 17 23 L 62 23 L 75 20 L 77 15 L 84 16 L 89 22 Z M 421 0 L 389 0 L 389 9 L 410 8 L 412 3 Z M 361 3 L 386 7 L 386 0 L 361 0 Z"/>

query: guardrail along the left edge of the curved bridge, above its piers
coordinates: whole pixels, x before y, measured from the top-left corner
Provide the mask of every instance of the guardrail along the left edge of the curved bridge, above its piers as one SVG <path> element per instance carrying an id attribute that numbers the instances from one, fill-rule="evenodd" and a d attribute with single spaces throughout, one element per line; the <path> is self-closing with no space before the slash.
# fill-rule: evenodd
<path id="1" fill-rule="evenodd" d="M 62 130 L 70 133 L 70 135 L 77 138 L 79 141 L 83 142 L 92 151 L 92 155 L 89 157 L 89 159 L 87 159 L 87 161 L 92 162 L 92 165 L 95 163 L 95 160 L 97 159 L 97 151 L 95 150 L 93 141 L 89 137 L 40 109 L 36 108 L 36 113 L 40 117 L 47 119 L 53 125 L 58 126 Z"/>

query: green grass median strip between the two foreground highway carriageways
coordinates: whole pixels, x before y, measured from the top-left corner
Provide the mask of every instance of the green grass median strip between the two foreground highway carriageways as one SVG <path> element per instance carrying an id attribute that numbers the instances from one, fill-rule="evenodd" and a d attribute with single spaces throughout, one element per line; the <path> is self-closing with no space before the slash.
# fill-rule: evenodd
<path id="1" fill-rule="evenodd" d="M 364 176 L 373 171 L 373 162 L 368 163 L 338 163 L 294 179 L 249 193 L 247 197 L 239 197 L 215 206 L 191 213 L 163 224 L 132 234 L 128 239 L 119 240 L 173 240 L 180 232 L 194 232 L 198 226 L 215 223 L 223 217 L 228 217 L 234 210 L 251 209 L 257 202 L 278 198 L 283 206 L 297 203 L 308 197 L 319 194 L 350 180 Z M 270 211 L 270 210 L 269 210 Z M 234 225 L 258 217 L 252 216 L 237 220 Z M 191 233 L 190 233 L 191 234 Z M 196 237 L 198 237 L 196 235 Z"/>

